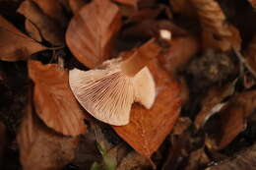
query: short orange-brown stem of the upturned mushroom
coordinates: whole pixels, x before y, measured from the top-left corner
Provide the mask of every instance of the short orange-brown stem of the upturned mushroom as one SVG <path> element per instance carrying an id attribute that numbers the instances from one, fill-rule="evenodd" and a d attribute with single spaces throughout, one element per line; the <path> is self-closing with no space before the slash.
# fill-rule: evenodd
<path id="1" fill-rule="evenodd" d="M 131 57 L 121 63 L 122 72 L 129 77 L 134 77 L 160 52 L 160 45 L 155 39 L 149 40 L 146 44 L 138 48 Z"/>

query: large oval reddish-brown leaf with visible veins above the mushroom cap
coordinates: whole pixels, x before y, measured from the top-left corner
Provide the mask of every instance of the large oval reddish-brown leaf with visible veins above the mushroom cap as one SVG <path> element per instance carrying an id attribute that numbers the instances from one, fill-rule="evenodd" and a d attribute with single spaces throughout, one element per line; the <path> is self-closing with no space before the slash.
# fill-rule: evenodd
<path id="1" fill-rule="evenodd" d="M 109 0 L 95 0 L 71 20 L 67 45 L 85 66 L 95 68 L 111 54 L 111 40 L 121 26 L 118 7 Z"/>

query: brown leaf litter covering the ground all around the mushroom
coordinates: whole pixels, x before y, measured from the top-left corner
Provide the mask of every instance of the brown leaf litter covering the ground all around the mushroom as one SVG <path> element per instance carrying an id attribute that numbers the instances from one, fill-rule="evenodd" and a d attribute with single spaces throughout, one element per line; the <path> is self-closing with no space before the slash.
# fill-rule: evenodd
<path id="1" fill-rule="evenodd" d="M 254 6 L 246 0 L 0 1 L 0 168 L 253 169 Z M 166 32 L 171 39 L 162 40 Z M 72 93 L 68 72 L 100 70 L 106 60 L 136 52 L 138 62 L 149 39 L 161 48 L 145 61 L 157 91 L 152 108 L 134 103 L 125 126 L 90 116 Z"/>

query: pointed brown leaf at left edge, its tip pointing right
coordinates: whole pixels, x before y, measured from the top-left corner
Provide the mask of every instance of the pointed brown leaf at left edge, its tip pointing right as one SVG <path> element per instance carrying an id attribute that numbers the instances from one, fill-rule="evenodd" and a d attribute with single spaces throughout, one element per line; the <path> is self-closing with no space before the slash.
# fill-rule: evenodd
<path id="1" fill-rule="evenodd" d="M 26 60 L 33 53 L 46 49 L 1 16 L 0 43 L 0 60 L 4 61 Z"/>

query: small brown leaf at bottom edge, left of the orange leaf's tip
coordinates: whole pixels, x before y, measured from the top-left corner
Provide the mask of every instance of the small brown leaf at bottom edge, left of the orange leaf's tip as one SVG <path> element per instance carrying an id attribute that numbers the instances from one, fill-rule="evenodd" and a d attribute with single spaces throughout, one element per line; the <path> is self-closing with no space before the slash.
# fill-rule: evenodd
<path id="1" fill-rule="evenodd" d="M 129 152 L 118 165 L 116 170 L 143 170 L 151 169 L 152 164 L 146 157 L 138 154 L 135 151 Z"/>

